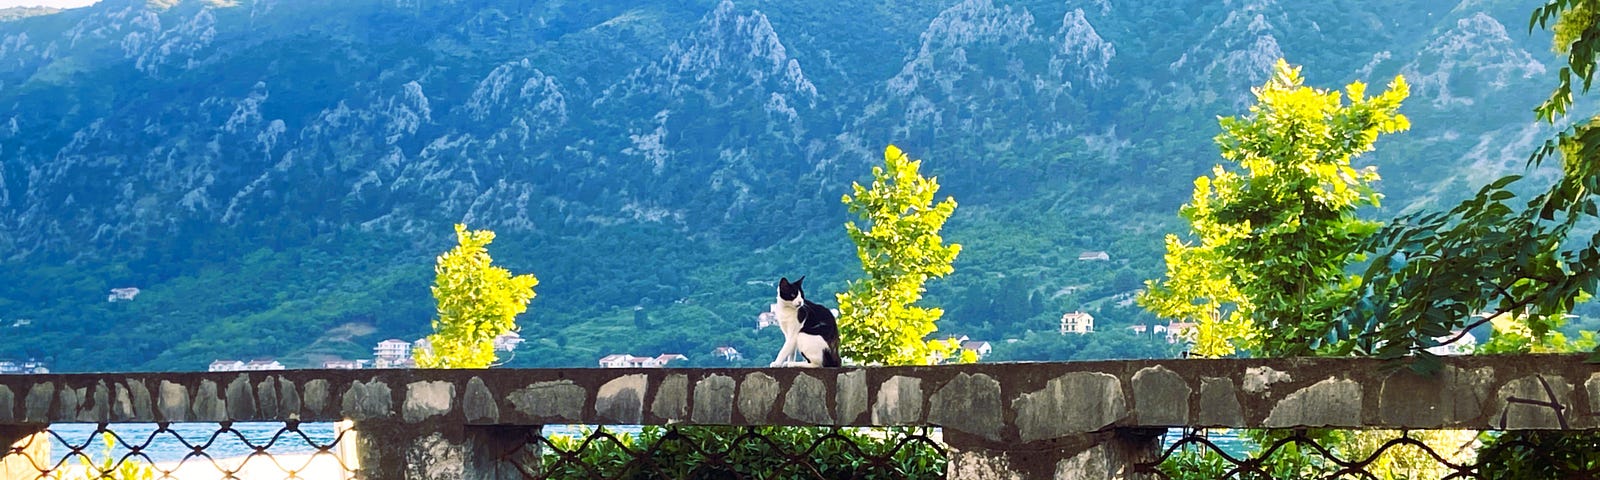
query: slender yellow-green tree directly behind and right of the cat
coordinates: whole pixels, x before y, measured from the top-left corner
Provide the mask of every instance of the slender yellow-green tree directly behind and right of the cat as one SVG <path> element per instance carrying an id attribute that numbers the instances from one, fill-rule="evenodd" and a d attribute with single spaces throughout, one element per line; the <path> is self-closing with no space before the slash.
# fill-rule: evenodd
<path id="1" fill-rule="evenodd" d="M 933 203 L 939 182 L 923 178 L 920 168 L 922 160 L 890 146 L 883 165 L 872 166 L 872 189 L 851 184 L 853 195 L 842 200 L 861 222 L 846 222 L 845 230 L 866 274 L 838 294 L 840 349 L 854 362 L 920 365 L 957 347 L 928 339 L 944 310 L 915 306 L 923 283 L 954 272 L 950 264 L 962 251 L 939 237 L 955 213 L 955 198 Z"/>

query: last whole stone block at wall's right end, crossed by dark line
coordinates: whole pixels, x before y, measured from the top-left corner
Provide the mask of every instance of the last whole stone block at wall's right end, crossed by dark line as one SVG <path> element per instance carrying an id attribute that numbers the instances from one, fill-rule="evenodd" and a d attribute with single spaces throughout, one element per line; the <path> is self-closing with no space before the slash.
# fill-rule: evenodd
<path id="1" fill-rule="evenodd" d="M 1547 430 L 1573 427 L 1573 384 L 1557 374 L 1530 374 L 1501 386 L 1490 429 Z"/>

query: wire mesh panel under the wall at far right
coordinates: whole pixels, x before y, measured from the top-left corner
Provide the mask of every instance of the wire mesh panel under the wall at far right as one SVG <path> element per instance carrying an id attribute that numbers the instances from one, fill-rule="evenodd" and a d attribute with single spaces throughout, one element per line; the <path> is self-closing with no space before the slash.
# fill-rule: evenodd
<path id="1" fill-rule="evenodd" d="M 1205 430 L 1182 430 L 1136 470 L 1158 478 L 1248 480 L 1600 478 L 1600 435 L 1594 432 L 1296 429 L 1245 437 L 1254 445 L 1222 445 Z"/>

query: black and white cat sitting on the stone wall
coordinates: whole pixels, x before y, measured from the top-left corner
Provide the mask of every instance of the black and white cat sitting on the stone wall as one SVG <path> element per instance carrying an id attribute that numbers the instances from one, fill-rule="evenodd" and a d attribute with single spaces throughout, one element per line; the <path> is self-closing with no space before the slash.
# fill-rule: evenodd
<path id="1" fill-rule="evenodd" d="M 773 360 L 771 366 L 840 366 L 838 325 L 834 323 L 834 312 L 805 299 L 800 282 L 805 282 L 805 277 L 794 283 L 789 283 L 789 277 L 778 280 L 773 315 L 778 315 L 778 328 L 784 331 L 784 347 L 778 350 L 778 360 Z M 794 362 L 795 350 L 806 362 Z"/>

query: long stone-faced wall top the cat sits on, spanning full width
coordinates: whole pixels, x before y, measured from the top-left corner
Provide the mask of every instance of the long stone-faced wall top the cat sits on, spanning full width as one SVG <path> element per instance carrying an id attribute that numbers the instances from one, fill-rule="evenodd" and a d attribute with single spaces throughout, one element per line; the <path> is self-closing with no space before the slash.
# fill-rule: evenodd
<path id="1" fill-rule="evenodd" d="M 1128 427 L 1597 429 L 1581 355 L 1453 357 L 1435 376 L 1368 358 L 760 370 L 290 370 L 0 376 L 0 426 L 942 426 L 987 442 Z"/>

